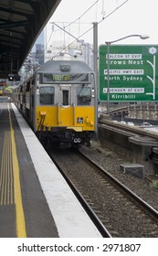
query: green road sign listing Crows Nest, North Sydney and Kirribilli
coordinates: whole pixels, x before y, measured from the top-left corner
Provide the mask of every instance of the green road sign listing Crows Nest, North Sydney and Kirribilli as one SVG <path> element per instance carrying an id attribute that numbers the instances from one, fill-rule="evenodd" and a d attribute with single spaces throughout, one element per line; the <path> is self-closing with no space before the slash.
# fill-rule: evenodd
<path id="1" fill-rule="evenodd" d="M 107 101 L 107 46 L 100 45 L 99 100 Z M 110 101 L 158 101 L 158 45 L 110 45 Z"/>

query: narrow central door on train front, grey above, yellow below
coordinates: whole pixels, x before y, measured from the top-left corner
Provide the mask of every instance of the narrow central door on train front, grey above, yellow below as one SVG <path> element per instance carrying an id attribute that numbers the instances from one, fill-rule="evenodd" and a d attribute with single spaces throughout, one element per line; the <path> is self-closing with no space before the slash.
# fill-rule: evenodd
<path id="1" fill-rule="evenodd" d="M 58 104 L 58 125 L 72 125 L 72 100 L 71 86 L 60 85 L 59 104 Z"/>

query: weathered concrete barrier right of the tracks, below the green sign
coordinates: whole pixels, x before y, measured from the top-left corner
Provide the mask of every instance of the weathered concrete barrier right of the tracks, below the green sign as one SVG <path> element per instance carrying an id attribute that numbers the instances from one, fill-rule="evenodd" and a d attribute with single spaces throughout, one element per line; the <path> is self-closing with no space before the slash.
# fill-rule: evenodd
<path id="1" fill-rule="evenodd" d="M 105 139 L 127 149 L 126 155 L 133 164 L 144 165 L 145 175 L 158 173 L 158 165 L 153 163 L 153 148 L 158 147 L 155 139 L 136 136 L 104 124 L 98 126 L 98 137 L 100 141 Z"/>

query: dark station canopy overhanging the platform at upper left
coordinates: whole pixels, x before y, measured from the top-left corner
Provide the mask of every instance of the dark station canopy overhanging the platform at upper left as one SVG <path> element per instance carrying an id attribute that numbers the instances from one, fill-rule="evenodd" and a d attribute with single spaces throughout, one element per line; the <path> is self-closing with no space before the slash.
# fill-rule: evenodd
<path id="1" fill-rule="evenodd" d="M 0 79 L 17 74 L 60 1 L 0 1 Z"/>

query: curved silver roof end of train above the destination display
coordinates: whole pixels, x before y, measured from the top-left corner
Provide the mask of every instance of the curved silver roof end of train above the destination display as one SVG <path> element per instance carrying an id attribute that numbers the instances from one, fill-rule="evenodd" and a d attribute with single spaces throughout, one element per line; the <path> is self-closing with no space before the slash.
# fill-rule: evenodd
<path id="1" fill-rule="evenodd" d="M 70 69 L 67 69 L 67 67 Z M 65 67 L 63 70 L 65 73 L 92 73 L 93 70 L 81 60 L 49 60 L 45 62 L 39 69 L 37 73 L 52 73 L 52 72 L 61 72 L 61 67 Z"/>

